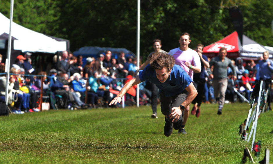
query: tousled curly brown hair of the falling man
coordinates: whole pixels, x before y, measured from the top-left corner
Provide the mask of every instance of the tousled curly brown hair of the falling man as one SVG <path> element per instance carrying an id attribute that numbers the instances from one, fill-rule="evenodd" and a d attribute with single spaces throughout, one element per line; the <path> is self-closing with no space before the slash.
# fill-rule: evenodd
<path id="1" fill-rule="evenodd" d="M 149 56 L 149 63 L 153 69 L 161 70 L 166 67 L 169 72 L 175 65 L 175 59 L 169 54 L 156 52 Z"/>

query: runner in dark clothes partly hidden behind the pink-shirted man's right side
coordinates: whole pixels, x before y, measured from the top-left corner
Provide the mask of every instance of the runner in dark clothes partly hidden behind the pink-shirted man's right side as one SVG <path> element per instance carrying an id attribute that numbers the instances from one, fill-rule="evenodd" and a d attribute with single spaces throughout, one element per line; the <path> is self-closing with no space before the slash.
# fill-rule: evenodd
<path id="1" fill-rule="evenodd" d="M 193 73 L 193 85 L 195 86 L 198 94 L 193 100 L 193 108 L 191 110 L 192 115 L 196 115 L 196 117 L 199 117 L 200 115 L 200 106 L 202 103 L 202 98 L 203 98 L 203 93 L 204 93 L 204 87 L 206 83 L 206 78 L 205 78 L 205 69 L 209 68 L 209 62 L 208 58 L 202 54 L 203 53 L 203 44 L 197 44 L 195 51 L 200 57 L 201 61 L 201 72 L 200 73 Z"/>

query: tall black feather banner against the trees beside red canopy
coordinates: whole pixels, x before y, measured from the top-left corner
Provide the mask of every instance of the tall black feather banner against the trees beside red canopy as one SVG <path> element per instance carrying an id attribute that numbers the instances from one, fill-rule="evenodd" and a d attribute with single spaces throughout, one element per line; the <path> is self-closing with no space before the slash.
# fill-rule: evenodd
<path id="1" fill-rule="evenodd" d="M 229 8 L 229 16 L 231 17 L 231 21 L 234 25 L 235 30 L 238 33 L 240 43 L 243 46 L 243 14 L 239 7 Z"/>

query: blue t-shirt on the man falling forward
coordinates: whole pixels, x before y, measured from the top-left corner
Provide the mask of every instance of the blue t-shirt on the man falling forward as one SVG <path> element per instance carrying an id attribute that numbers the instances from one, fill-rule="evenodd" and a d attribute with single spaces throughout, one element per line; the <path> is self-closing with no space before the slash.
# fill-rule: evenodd
<path id="1" fill-rule="evenodd" d="M 154 83 L 159 88 L 159 92 L 165 91 L 166 97 L 182 93 L 193 82 L 190 76 L 179 65 L 173 66 L 170 76 L 164 83 L 161 83 L 157 79 L 155 69 L 150 67 L 150 64 L 139 71 L 139 79 L 141 81 L 150 80 L 151 83 Z"/>

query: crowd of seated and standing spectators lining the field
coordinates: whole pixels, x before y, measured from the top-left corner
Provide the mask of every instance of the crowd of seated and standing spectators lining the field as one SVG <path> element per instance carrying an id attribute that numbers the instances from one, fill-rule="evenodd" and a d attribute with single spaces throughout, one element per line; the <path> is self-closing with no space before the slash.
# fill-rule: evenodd
<path id="1" fill-rule="evenodd" d="M 25 52 L 24 56 L 17 56 L 17 60 L 10 69 L 8 85 L 8 104 L 12 106 L 13 113 L 38 112 L 39 95 L 41 86 L 43 94 L 49 96 L 60 95 L 63 100 L 64 109 L 85 109 L 109 107 L 109 101 L 116 96 L 125 82 L 130 81 L 138 71 L 137 60 L 133 56 L 125 58 L 125 53 L 120 52 L 118 58 L 112 57 L 111 51 L 100 54 L 97 59 L 86 58 L 83 65 L 82 56 L 73 56 L 68 51 L 63 51 L 58 57 L 54 56 L 54 67 L 49 72 L 39 72 L 34 75 L 31 53 Z M 268 56 L 268 53 L 265 52 Z M 0 63 L 2 56 L 0 54 Z M 208 59 L 210 60 L 210 59 Z M 243 61 L 241 58 L 232 60 L 236 68 L 237 79 L 228 69 L 228 86 L 226 91 L 226 102 L 242 102 L 243 99 L 236 96 L 234 88 L 242 93 L 248 100 L 255 82 L 260 79 L 260 64 L 264 55 L 254 60 Z M 270 65 L 270 64 L 269 64 Z M 213 69 L 213 68 L 212 68 Z M 6 90 L 5 64 L 0 64 L 0 97 L 4 101 Z M 271 77 L 270 77 L 271 79 Z M 216 103 L 213 95 L 212 79 L 207 76 L 203 94 L 203 102 Z M 136 104 L 136 87 L 132 87 L 125 95 L 125 104 Z M 146 82 L 140 84 L 140 103 L 149 104 L 151 91 L 146 87 Z M 52 99 L 49 99 L 52 101 Z M 100 103 L 100 102 L 103 102 Z M 54 102 L 55 103 L 55 102 Z M 51 105 L 54 104 L 51 102 Z M 120 107 L 121 104 L 110 107 Z M 53 105 L 51 108 L 54 108 Z"/>

